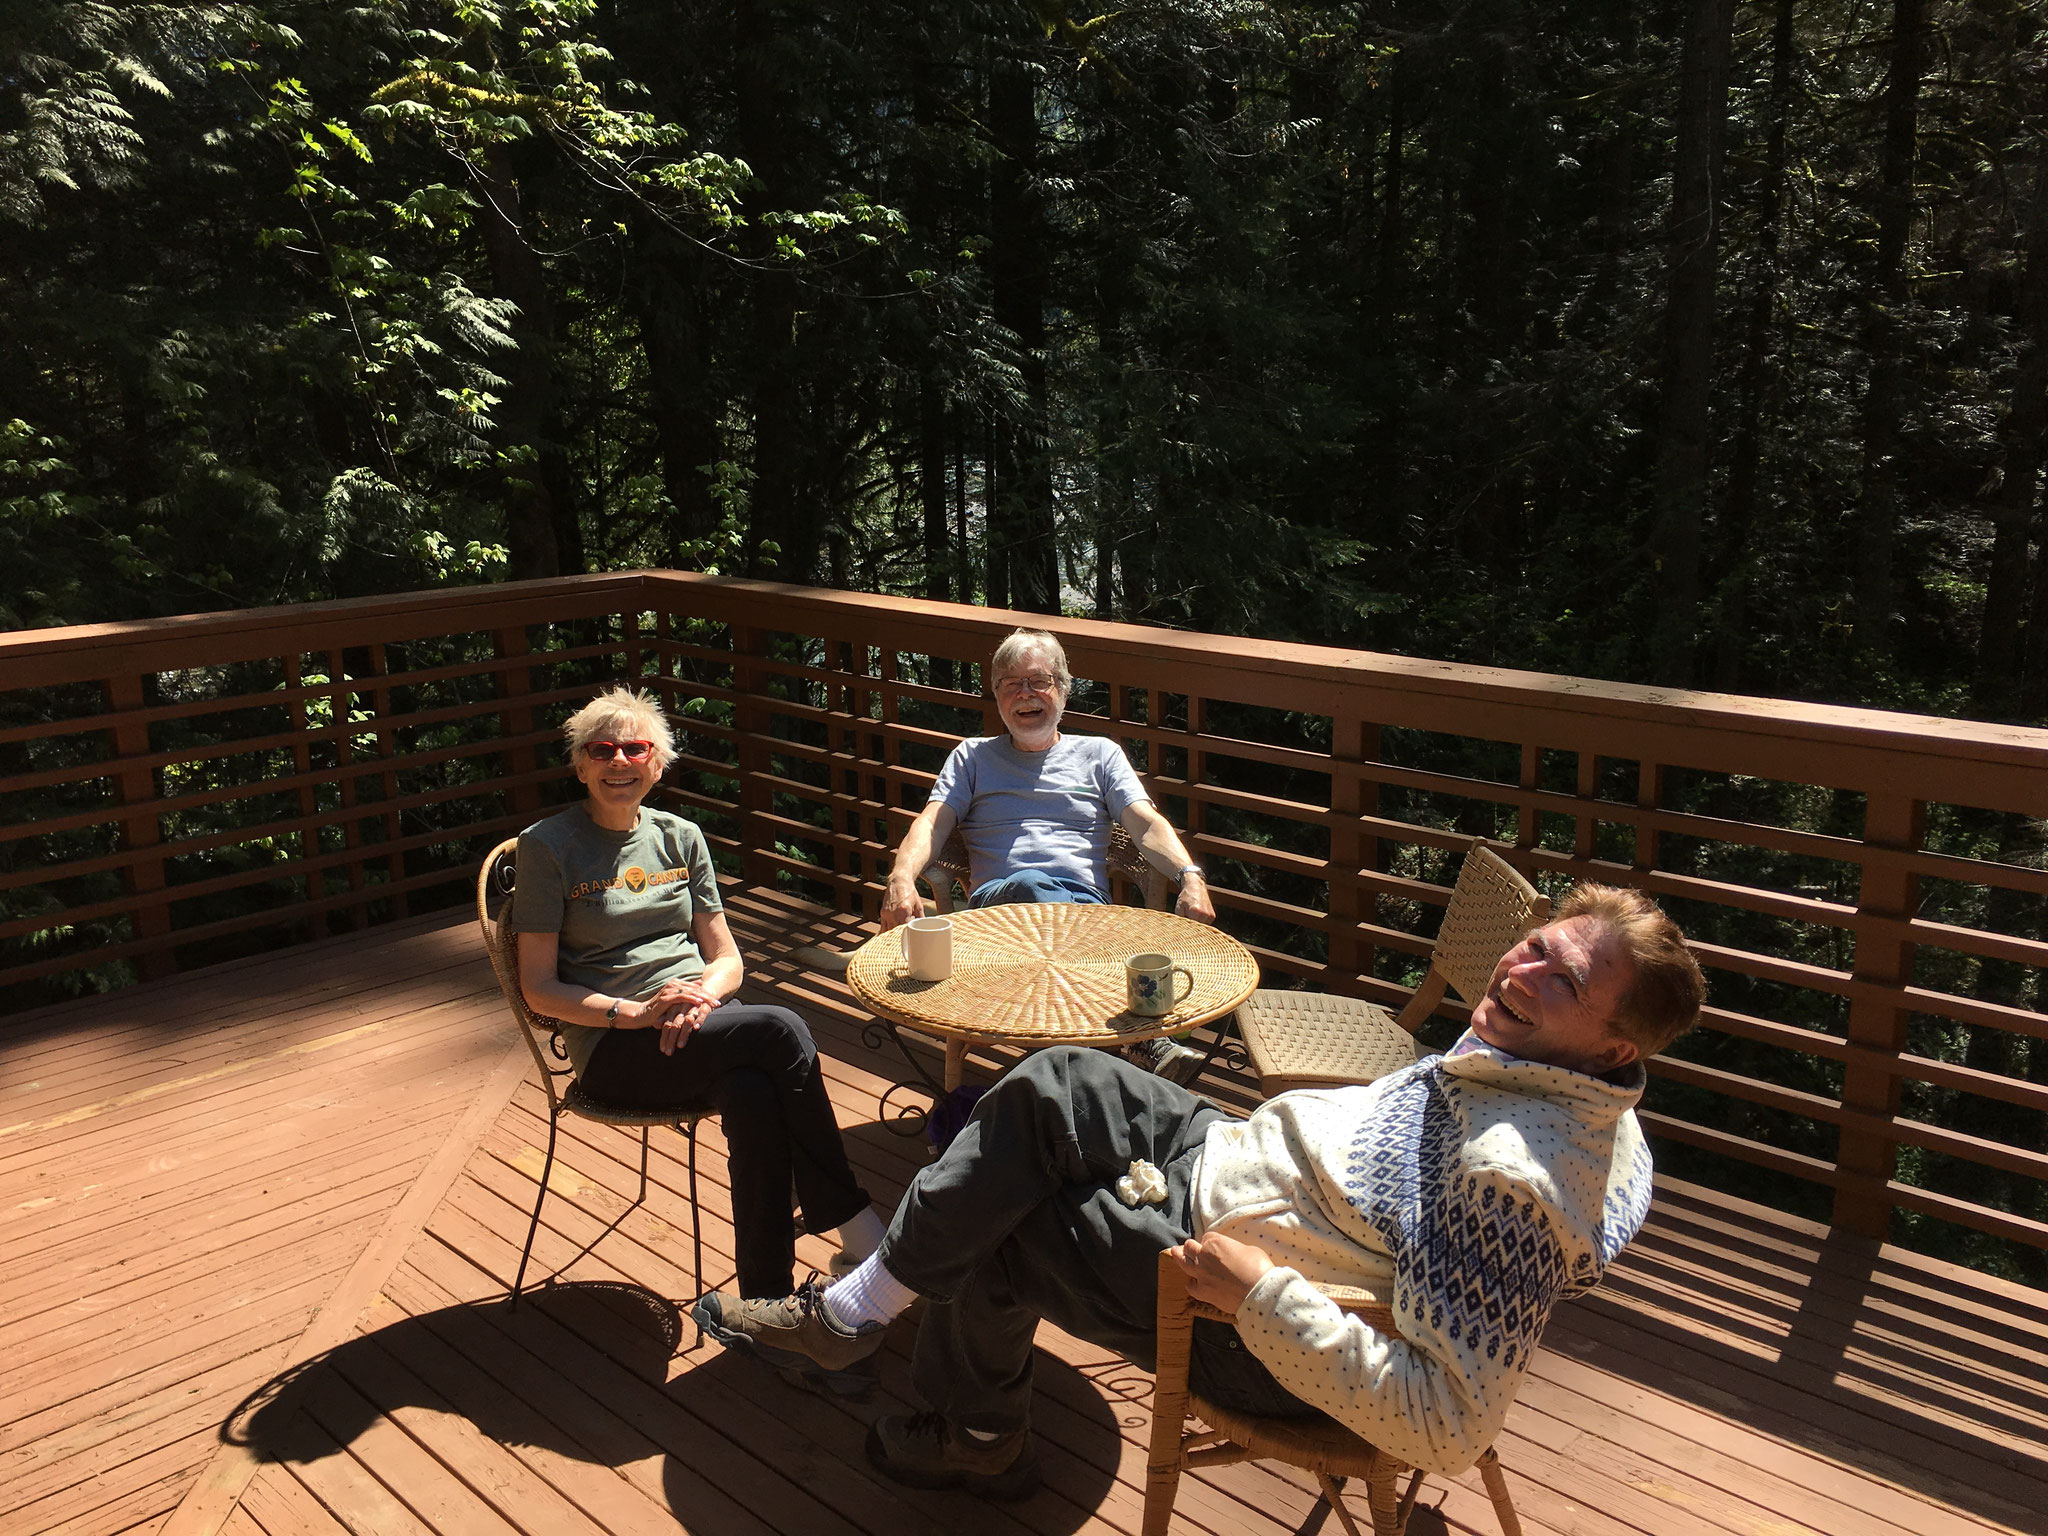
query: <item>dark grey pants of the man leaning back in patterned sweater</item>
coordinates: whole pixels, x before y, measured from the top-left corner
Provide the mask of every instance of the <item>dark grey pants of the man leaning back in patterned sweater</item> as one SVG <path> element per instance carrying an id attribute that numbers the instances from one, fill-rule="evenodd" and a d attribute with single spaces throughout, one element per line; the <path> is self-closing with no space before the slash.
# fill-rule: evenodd
<path id="1" fill-rule="evenodd" d="M 1196 1153 L 1221 1118 L 1106 1051 L 1040 1051 L 995 1083 L 881 1245 L 883 1266 L 926 1296 L 918 1393 L 969 1430 L 1028 1423 L 1040 1317 L 1153 1370 L 1159 1249 L 1190 1237 Z M 1116 1198 L 1139 1157 L 1165 1176 L 1165 1204 Z M 1223 1323 L 1196 1323 L 1190 1382 L 1247 1413 L 1311 1413 Z"/>

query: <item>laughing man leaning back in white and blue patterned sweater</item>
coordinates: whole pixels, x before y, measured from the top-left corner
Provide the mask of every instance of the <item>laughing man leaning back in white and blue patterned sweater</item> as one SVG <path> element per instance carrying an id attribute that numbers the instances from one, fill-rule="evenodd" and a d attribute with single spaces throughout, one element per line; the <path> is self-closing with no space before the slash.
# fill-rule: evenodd
<path id="1" fill-rule="evenodd" d="M 1460 1473 L 1499 1434 L 1550 1309 L 1595 1286 L 1642 1225 L 1642 1061 L 1704 995 L 1663 911 L 1585 885 L 1501 956 L 1448 1053 L 1364 1087 L 1282 1094 L 1231 1120 L 1114 1057 L 1044 1051 L 918 1174 L 858 1270 L 782 1300 L 705 1296 L 696 1317 L 848 1391 L 926 1296 L 913 1382 L 930 1409 L 881 1419 L 868 1456 L 903 1483 L 1024 1497 L 1038 1319 L 1149 1370 L 1171 1249 L 1190 1292 L 1237 1317 L 1196 1323 L 1198 1395 L 1321 1409 L 1413 1466 Z M 1124 1202 L 1135 1159 L 1163 1198 Z M 1391 1298 L 1399 1331 L 1317 1284 Z"/>

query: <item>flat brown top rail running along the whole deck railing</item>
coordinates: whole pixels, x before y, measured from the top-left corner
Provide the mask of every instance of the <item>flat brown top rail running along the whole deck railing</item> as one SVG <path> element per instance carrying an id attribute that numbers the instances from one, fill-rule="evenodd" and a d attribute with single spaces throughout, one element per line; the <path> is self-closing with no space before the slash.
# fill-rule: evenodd
<path id="1" fill-rule="evenodd" d="M 977 657 L 991 631 L 1057 633 L 1075 670 L 1169 692 L 1223 690 L 1219 674 L 1260 678 L 1276 709 L 1552 741 L 1614 758 L 1800 782 L 1964 799 L 2048 815 L 2048 729 L 1810 705 L 1788 698 L 1653 688 L 1511 668 L 1358 651 L 1298 641 L 1184 633 L 1010 608 L 834 592 L 694 571 L 610 571 L 477 588 L 440 588 L 281 608 L 145 618 L 0 635 L 12 686 L 90 682 L 123 672 L 172 672 L 367 641 L 406 641 L 498 625 L 664 606 L 770 629 L 813 623 L 846 635 L 911 629 L 924 647 Z M 950 637 L 950 645 L 948 645 Z M 1114 666 L 1110 666 L 1114 664 Z M 1968 766 L 1958 784 L 1958 766 Z"/>

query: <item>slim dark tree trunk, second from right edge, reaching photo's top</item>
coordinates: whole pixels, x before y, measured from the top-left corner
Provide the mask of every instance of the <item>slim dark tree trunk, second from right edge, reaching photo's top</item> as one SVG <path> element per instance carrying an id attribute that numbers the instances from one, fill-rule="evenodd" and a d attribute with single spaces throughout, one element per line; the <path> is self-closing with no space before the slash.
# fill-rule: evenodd
<path id="1" fill-rule="evenodd" d="M 1864 489 L 1855 510 L 1855 643 L 1890 649 L 1892 543 L 1898 532 L 1898 432 L 1905 420 L 1901 311 L 1907 305 L 1907 236 L 1913 229 L 1913 160 L 1919 86 L 1927 55 L 1925 0 L 1892 0 L 1892 63 L 1884 82 L 1878 166 L 1878 252 L 1864 293 Z"/>

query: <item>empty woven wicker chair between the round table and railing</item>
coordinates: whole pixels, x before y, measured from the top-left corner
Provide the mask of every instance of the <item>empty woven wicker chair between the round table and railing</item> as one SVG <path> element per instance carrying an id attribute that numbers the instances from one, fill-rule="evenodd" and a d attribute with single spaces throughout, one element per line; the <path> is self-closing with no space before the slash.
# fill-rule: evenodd
<path id="1" fill-rule="evenodd" d="M 1237 1010 L 1260 1094 L 1370 1083 L 1415 1061 L 1415 1030 L 1444 1001 L 1446 985 L 1464 1001 L 1479 1001 L 1501 954 L 1548 915 L 1550 897 L 1475 838 L 1444 909 L 1430 975 L 1399 1018 L 1362 997 L 1313 991 L 1262 989 Z"/>

